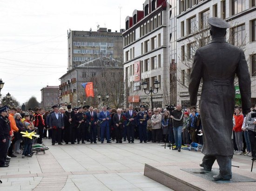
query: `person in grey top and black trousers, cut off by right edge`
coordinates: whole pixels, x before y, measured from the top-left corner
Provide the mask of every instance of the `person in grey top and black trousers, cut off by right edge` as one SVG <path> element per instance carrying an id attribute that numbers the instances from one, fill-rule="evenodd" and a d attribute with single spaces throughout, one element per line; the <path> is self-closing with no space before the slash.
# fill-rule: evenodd
<path id="1" fill-rule="evenodd" d="M 252 160 L 256 160 L 256 151 L 255 151 L 255 136 L 256 136 L 256 105 L 254 109 L 249 113 L 246 118 L 246 123 L 249 124 L 248 133 L 249 140 L 251 143 L 251 152 L 252 152 Z"/>

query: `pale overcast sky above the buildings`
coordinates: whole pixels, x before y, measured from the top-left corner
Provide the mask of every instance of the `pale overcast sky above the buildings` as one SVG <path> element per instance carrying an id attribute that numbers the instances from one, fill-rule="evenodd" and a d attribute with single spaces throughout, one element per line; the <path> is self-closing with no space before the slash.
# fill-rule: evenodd
<path id="1" fill-rule="evenodd" d="M 113 31 L 145 0 L 0 0 L 0 78 L 20 104 L 67 72 L 67 30 Z"/>

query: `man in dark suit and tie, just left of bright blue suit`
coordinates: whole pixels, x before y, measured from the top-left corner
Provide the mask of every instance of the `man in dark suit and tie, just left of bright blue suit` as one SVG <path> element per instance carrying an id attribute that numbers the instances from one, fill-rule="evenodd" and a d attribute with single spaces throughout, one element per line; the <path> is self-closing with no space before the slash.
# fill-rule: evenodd
<path id="1" fill-rule="evenodd" d="M 97 114 L 96 112 L 94 112 L 94 108 L 91 106 L 89 107 L 89 111 L 86 113 L 87 115 L 87 123 L 88 123 L 88 131 L 89 131 L 89 134 L 90 134 L 90 140 L 91 140 L 91 143 L 97 143 L 96 142 L 96 130 L 97 130 L 97 127 L 96 127 L 96 124 L 97 124 L 97 120 L 98 120 L 98 117 L 97 117 Z"/>

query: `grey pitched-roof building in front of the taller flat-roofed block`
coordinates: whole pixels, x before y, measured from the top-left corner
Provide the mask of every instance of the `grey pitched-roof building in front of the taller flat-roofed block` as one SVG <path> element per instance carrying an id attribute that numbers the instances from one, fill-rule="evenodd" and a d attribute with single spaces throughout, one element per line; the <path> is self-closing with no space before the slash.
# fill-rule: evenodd
<path id="1" fill-rule="evenodd" d="M 72 103 L 74 106 L 86 104 L 97 107 L 97 94 L 109 94 L 108 105 L 115 108 L 123 106 L 123 63 L 114 58 L 101 56 L 69 70 L 61 76 L 60 104 Z M 82 83 L 93 82 L 94 98 L 85 95 Z M 78 102 L 81 101 L 80 103 Z M 85 102 L 84 102 L 85 101 Z"/>

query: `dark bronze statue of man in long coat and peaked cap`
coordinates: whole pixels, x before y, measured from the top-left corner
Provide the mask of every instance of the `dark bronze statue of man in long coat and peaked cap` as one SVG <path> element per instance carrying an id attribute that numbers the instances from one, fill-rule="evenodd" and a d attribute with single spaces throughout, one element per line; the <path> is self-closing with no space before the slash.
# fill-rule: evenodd
<path id="1" fill-rule="evenodd" d="M 214 180 L 232 178 L 231 157 L 234 154 L 231 140 L 235 105 L 234 78 L 238 77 L 243 113 L 250 111 L 251 81 L 243 51 L 225 40 L 229 24 L 219 18 L 210 18 L 212 41 L 195 52 L 189 80 L 191 105 L 197 103 L 201 78 L 201 121 L 205 156 L 202 166 L 210 171 L 217 160 L 220 172 Z M 213 114 L 214 111 L 214 114 Z"/>

